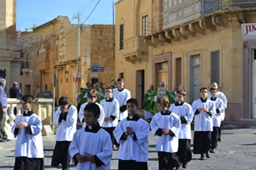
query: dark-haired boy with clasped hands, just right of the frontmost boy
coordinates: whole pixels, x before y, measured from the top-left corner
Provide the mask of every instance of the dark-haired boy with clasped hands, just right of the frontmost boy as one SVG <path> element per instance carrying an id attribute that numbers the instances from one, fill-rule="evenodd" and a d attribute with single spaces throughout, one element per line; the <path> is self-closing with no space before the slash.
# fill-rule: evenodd
<path id="1" fill-rule="evenodd" d="M 148 123 L 137 114 L 138 102 L 136 99 L 127 101 L 129 116 L 122 119 L 114 130 L 114 136 L 120 144 L 117 153 L 119 170 L 147 170 Z"/>

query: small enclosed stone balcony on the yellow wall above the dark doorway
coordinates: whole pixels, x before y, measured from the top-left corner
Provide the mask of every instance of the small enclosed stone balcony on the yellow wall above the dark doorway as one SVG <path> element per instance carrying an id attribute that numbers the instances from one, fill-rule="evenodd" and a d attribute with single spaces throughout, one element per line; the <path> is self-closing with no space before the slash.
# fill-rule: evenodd
<path id="1" fill-rule="evenodd" d="M 142 36 L 133 37 L 123 41 L 123 57 L 125 61 L 147 61 L 148 45 L 144 43 Z"/>

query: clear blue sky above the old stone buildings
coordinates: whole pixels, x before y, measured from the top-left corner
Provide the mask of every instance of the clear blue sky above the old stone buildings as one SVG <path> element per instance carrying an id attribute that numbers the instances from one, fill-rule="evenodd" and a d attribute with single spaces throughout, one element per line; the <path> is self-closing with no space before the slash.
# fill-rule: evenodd
<path id="1" fill-rule="evenodd" d="M 117 1 L 114 0 L 114 3 Z M 78 11 L 81 15 L 80 23 L 83 23 L 97 3 L 97 7 L 83 24 L 113 24 L 112 2 L 113 0 L 17 0 L 16 29 L 25 31 L 32 28 L 33 24 L 40 26 L 59 15 L 68 16 L 71 23 L 77 24 L 74 17 Z"/>

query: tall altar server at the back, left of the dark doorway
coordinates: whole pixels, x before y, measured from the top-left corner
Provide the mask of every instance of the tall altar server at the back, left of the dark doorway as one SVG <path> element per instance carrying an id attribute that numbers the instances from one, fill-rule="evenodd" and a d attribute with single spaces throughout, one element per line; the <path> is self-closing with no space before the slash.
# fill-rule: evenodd
<path id="1" fill-rule="evenodd" d="M 131 99 L 131 92 L 124 88 L 124 80 L 122 78 L 117 79 L 117 88 L 113 90 L 115 98 L 119 103 L 119 120 L 127 117 L 126 102 Z"/>

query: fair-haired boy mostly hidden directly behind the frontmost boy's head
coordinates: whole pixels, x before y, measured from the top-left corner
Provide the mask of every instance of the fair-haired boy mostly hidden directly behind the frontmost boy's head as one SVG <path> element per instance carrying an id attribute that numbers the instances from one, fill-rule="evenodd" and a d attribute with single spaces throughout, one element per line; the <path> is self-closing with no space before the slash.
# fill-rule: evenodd
<path id="1" fill-rule="evenodd" d="M 97 100 L 97 91 L 95 90 L 95 89 L 91 89 L 91 90 L 89 90 L 88 91 L 88 102 L 86 102 L 86 103 L 84 103 L 84 104 L 82 104 L 81 105 L 81 107 L 80 107 L 80 110 L 79 110 L 79 112 L 78 112 L 78 117 L 79 117 L 79 119 L 80 119 L 80 122 L 82 122 L 83 124 L 82 124 L 82 127 L 84 128 L 84 127 L 86 127 L 86 123 L 84 123 L 84 115 L 83 115 L 83 112 L 84 112 L 84 108 L 88 105 L 88 104 L 90 104 L 90 103 L 95 103 L 96 105 L 98 105 L 99 106 L 99 109 L 100 109 L 100 115 L 99 115 L 99 119 L 97 120 L 98 121 L 98 124 L 99 124 L 99 126 L 101 126 L 102 125 L 102 123 L 103 123 L 103 121 L 104 121 L 104 115 L 105 115 L 105 113 L 104 113 L 104 109 L 103 109 L 103 107 L 99 104 L 99 103 L 97 103 L 96 102 L 96 100 Z"/>

